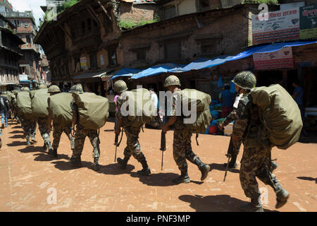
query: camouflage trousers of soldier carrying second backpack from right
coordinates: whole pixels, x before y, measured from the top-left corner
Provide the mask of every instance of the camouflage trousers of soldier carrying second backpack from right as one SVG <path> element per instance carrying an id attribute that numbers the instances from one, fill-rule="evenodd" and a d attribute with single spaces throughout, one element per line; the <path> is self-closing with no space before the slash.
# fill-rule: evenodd
<path id="1" fill-rule="evenodd" d="M 186 129 L 175 129 L 173 139 L 173 157 L 178 165 L 180 172 L 187 172 L 187 162 L 194 163 L 194 160 L 198 157 L 192 151 L 192 131 Z"/>

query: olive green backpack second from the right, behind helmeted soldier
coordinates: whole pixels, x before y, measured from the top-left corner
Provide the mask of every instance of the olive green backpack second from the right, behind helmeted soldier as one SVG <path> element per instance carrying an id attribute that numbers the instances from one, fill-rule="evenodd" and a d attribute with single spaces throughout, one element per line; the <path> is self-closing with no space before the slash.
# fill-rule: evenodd
<path id="1" fill-rule="evenodd" d="M 209 105 L 211 104 L 211 96 L 207 93 L 203 93 L 194 89 L 184 89 L 180 90 L 179 92 L 182 100 L 182 110 L 183 105 L 186 104 L 189 111 L 196 109 L 197 112 L 197 117 L 194 123 L 185 123 L 185 126 L 193 133 L 205 133 L 212 120 L 209 109 Z M 182 114 L 184 114 L 184 112 L 182 112 Z M 184 117 L 184 119 L 188 118 L 190 118 L 190 116 Z"/>

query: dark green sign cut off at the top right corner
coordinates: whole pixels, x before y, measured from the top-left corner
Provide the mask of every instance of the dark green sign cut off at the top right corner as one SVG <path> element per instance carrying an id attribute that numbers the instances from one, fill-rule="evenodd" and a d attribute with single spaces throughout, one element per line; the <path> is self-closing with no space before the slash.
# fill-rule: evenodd
<path id="1" fill-rule="evenodd" d="M 299 8 L 301 39 L 317 37 L 317 5 L 303 6 Z"/>

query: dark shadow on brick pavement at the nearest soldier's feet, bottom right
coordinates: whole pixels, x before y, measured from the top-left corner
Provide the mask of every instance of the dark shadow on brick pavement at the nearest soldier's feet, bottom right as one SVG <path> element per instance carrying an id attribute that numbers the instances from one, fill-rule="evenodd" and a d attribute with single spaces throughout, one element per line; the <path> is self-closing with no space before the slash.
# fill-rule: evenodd
<path id="1" fill-rule="evenodd" d="M 189 203 L 189 206 L 197 212 L 240 212 L 239 206 L 247 203 L 228 195 L 199 196 L 182 195 L 178 197 L 181 201 Z M 265 212 L 273 212 L 263 208 Z M 278 211 L 274 211 L 278 212 Z"/>

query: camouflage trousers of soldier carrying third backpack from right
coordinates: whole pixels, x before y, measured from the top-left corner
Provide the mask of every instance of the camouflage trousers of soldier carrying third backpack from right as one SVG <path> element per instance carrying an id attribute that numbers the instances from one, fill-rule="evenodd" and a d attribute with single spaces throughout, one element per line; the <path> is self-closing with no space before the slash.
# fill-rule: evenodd
<path id="1" fill-rule="evenodd" d="M 127 146 L 125 147 L 123 155 L 125 155 L 125 158 L 130 158 L 131 155 L 133 155 L 138 162 L 143 162 L 145 160 L 145 156 L 142 153 L 138 141 L 141 127 L 125 126 L 124 130 L 125 135 L 127 136 Z"/>

